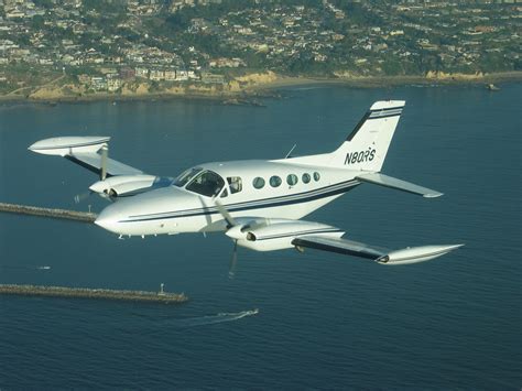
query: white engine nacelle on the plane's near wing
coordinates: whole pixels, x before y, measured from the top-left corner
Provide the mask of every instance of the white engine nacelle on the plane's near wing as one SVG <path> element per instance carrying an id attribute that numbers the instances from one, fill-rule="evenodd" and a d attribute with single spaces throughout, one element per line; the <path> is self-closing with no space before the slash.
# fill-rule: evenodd
<path id="1" fill-rule="evenodd" d="M 325 224 L 289 220 L 247 229 L 243 233 L 243 238 L 238 238 L 239 246 L 255 251 L 273 251 L 294 248 L 292 240 L 295 237 L 313 235 L 340 238 L 345 232 Z"/>

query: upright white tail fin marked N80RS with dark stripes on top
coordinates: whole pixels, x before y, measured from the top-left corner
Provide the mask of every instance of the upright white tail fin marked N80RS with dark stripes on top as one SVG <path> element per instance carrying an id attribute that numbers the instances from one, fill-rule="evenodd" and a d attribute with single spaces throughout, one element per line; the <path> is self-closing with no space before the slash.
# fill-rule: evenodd
<path id="1" fill-rule="evenodd" d="M 404 104 L 404 100 L 376 101 L 346 141 L 330 154 L 330 164 L 381 171 Z"/>

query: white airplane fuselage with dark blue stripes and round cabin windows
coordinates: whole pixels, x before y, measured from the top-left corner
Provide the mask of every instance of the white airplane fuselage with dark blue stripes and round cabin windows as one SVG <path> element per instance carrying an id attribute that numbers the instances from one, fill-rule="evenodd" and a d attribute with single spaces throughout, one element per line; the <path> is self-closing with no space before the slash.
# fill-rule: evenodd
<path id="1" fill-rule="evenodd" d="M 129 236 L 225 231 L 227 224 L 216 199 L 237 219 L 297 220 L 360 184 L 356 172 L 293 163 L 298 160 L 202 164 L 197 166 L 200 172 L 224 180 L 216 196 L 194 193 L 187 184 L 171 185 L 120 198 L 101 211 L 96 224 Z M 232 189 L 229 178 L 239 178 L 241 188 Z"/>

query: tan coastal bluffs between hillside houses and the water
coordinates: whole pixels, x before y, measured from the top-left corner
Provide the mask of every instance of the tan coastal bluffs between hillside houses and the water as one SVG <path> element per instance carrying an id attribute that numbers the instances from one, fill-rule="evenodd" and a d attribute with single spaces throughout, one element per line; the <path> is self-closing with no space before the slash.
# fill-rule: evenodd
<path id="1" fill-rule="evenodd" d="M 285 76 L 272 70 L 255 72 L 231 77 L 222 83 L 203 83 L 200 80 L 184 83 L 154 83 L 150 80 L 126 82 L 115 91 L 95 91 L 86 85 L 68 78 L 66 83 L 50 83 L 44 86 L 25 87 L 18 91 L 0 96 L 0 100 L 33 101 L 81 101 L 81 100 L 119 100 L 168 97 L 198 97 L 210 99 L 230 99 L 235 97 L 264 95 L 267 90 L 309 84 L 342 84 L 355 87 L 382 87 L 407 84 L 433 83 L 497 83 L 501 80 L 520 80 L 522 72 L 483 74 L 445 73 L 429 70 L 424 76 L 366 76 L 348 70 L 336 72 L 335 77 L 307 78 Z"/>

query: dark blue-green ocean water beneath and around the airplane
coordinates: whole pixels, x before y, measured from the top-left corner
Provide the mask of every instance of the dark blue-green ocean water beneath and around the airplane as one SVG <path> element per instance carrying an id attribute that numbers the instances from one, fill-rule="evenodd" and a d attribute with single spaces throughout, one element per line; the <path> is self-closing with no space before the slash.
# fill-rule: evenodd
<path id="1" fill-rule="evenodd" d="M 383 267 L 318 251 L 239 249 L 222 235 L 118 240 L 0 215 L 0 283 L 185 292 L 180 306 L 0 296 L 0 388 L 520 389 L 522 85 L 293 88 L 265 108 L 213 101 L 4 105 L 0 202 L 100 210 L 97 178 L 31 153 L 112 135 L 110 154 L 174 176 L 202 162 L 336 148 L 369 106 L 405 99 L 383 172 L 445 193 L 363 185 L 307 219 L 389 248 L 466 243 Z M 48 265 L 50 269 L 40 267 Z M 259 314 L 251 311 L 259 308 Z"/>

